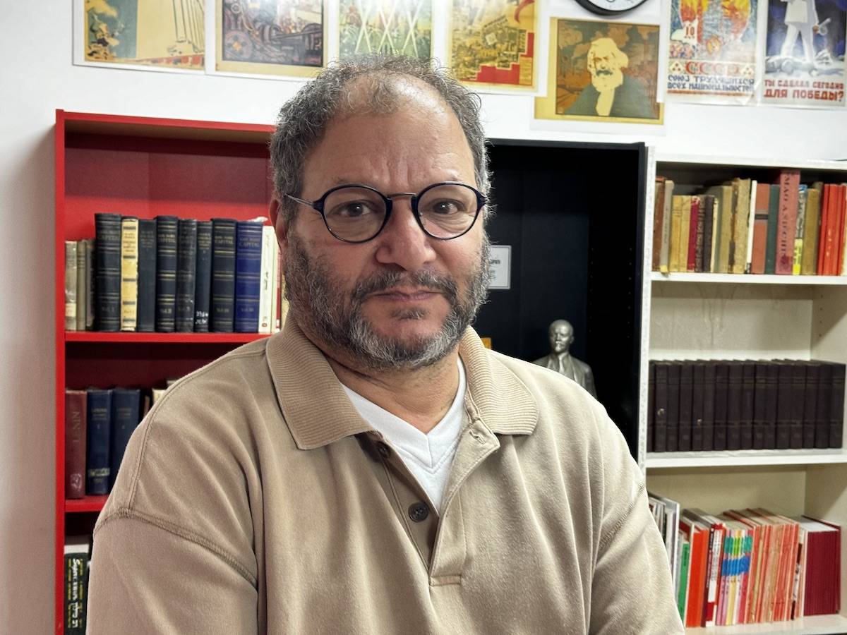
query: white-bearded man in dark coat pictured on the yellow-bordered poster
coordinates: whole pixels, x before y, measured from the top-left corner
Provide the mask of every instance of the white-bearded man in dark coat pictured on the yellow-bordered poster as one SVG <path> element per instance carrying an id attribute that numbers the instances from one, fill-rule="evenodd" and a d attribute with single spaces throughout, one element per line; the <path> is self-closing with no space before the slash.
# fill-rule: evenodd
<path id="1" fill-rule="evenodd" d="M 629 58 L 611 37 L 591 42 L 586 63 L 591 83 L 579 93 L 567 114 L 656 119 L 644 85 L 623 75 Z"/>

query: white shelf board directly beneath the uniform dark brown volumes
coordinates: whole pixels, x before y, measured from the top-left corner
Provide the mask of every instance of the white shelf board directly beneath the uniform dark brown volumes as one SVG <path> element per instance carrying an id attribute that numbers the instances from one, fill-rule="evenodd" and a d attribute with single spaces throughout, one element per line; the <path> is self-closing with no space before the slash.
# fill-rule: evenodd
<path id="1" fill-rule="evenodd" d="M 645 467 L 744 467 L 847 463 L 847 450 L 728 450 L 722 452 L 648 452 Z"/>

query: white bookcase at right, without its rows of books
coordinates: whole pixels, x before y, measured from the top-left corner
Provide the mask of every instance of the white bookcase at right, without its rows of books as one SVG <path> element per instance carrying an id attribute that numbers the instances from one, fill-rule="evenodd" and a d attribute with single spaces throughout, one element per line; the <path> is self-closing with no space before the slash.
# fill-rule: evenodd
<path id="1" fill-rule="evenodd" d="M 646 184 L 639 463 L 651 493 L 717 513 L 749 506 L 847 527 L 847 450 L 646 451 L 649 360 L 824 359 L 847 362 L 847 276 L 651 271 L 654 177 L 684 186 L 734 176 L 771 179 L 799 168 L 800 181 L 847 180 L 847 162 L 697 157 L 650 152 Z M 702 180 L 699 180 L 702 179 Z M 771 181 L 772 182 L 772 181 Z M 841 614 L 689 633 L 847 632 L 847 535 L 842 544 Z"/>

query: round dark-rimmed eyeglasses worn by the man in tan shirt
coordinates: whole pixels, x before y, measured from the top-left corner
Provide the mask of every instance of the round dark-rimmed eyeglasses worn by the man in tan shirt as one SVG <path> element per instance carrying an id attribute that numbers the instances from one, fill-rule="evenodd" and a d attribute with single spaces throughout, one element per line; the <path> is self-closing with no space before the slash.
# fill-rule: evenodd
<path id="1" fill-rule="evenodd" d="M 438 240 L 451 240 L 468 233 L 488 199 L 470 185 L 446 181 L 422 191 L 397 192 L 385 196 L 368 185 L 339 185 L 317 201 L 305 201 L 286 194 L 292 201 L 307 205 L 324 218 L 326 229 L 338 240 L 367 242 L 379 235 L 397 196 L 410 196 L 412 213 L 424 234 Z"/>

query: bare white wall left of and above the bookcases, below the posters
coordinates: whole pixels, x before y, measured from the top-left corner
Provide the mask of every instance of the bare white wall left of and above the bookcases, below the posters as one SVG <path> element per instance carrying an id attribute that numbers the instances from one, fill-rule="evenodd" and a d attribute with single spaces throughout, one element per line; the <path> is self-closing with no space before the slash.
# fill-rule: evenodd
<path id="1" fill-rule="evenodd" d="M 0 624 L 53 615 L 53 119 L 56 108 L 269 124 L 296 84 L 71 63 L 68 0 L 3 2 L 0 38 Z M 636 141 L 539 130 L 529 97 L 484 97 L 490 136 Z M 612 130 L 610 128 L 610 130 Z M 847 112 L 671 104 L 665 152 L 847 157 Z"/>

